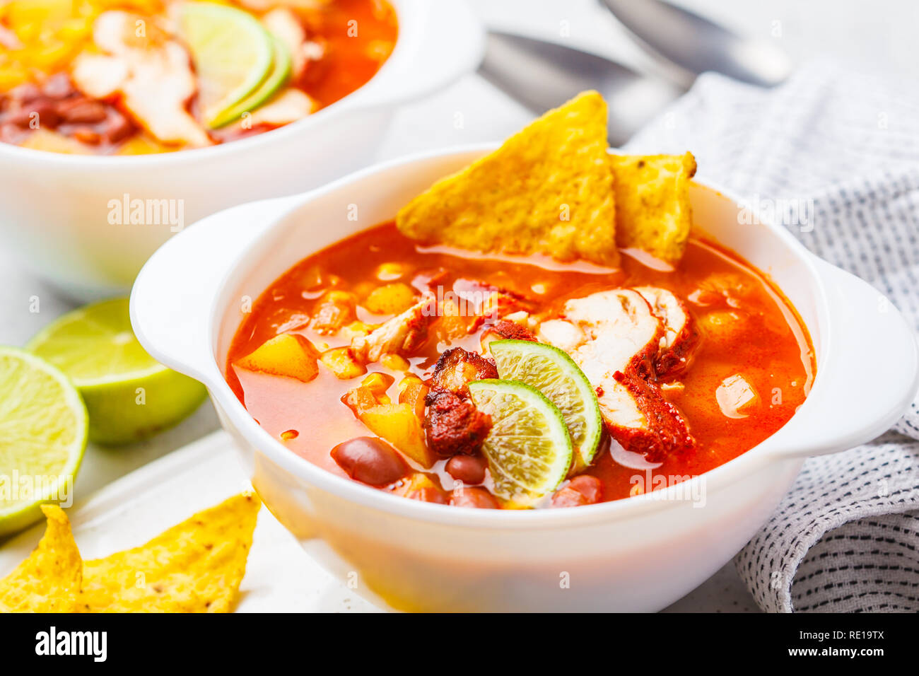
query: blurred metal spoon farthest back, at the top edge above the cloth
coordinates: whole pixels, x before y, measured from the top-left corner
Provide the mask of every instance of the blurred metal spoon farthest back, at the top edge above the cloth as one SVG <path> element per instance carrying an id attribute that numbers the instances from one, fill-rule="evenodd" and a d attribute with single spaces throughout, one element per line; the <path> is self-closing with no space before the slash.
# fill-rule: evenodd
<path id="1" fill-rule="evenodd" d="M 759 86 L 791 73 L 785 52 L 767 40 L 743 38 L 705 17 L 662 0 L 600 0 L 647 52 L 663 58 L 684 84 L 715 71 Z"/>

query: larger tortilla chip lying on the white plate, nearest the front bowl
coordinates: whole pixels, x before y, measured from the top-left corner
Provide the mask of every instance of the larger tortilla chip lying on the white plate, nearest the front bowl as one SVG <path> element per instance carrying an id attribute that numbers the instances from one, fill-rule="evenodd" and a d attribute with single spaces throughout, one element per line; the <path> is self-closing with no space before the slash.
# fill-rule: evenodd
<path id="1" fill-rule="evenodd" d="M 242 493 L 147 544 L 86 561 L 84 613 L 229 613 L 261 503 Z"/>

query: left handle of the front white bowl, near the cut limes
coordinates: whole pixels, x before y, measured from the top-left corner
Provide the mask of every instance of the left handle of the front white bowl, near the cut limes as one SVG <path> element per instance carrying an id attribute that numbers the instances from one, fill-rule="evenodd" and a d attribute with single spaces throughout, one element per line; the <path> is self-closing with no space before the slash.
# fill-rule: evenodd
<path id="1" fill-rule="evenodd" d="M 130 292 L 130 323 L 143 349 L 204 384 L 213 375 L 208 341 L 225 270 L 296 198 L 242 204 L 188 226 L 144 264 Z"/>

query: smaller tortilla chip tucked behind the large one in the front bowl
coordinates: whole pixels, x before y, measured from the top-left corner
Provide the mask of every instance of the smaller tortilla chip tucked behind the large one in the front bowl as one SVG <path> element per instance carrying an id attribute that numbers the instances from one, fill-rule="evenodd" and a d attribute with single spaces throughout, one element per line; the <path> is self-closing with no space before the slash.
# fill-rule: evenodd
<path id="1" fill-rule="evenodd" d="M 616 239 L 674 265 L 692 227 L 689 179 L 696 158 L 686 155 L 611 155 L 616 190 Z"/>

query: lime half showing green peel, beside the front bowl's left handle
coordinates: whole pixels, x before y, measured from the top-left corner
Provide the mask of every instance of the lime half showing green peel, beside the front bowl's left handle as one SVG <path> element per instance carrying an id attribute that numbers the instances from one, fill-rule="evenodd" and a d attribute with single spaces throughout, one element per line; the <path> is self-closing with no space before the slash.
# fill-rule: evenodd
<path id="1" fill-rule="evenodd" d="M 89 439 L 96 443 L 150 436 L 186 418 L 207 395 L 204 385 L 143 351 L 130 328 L 127 298 L 63 315 L 26 347 L 80 390 L 89 411 Z"/>

